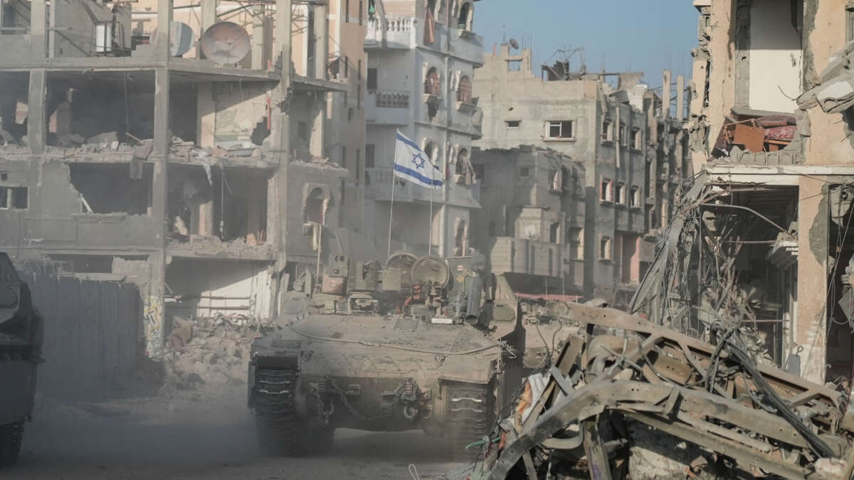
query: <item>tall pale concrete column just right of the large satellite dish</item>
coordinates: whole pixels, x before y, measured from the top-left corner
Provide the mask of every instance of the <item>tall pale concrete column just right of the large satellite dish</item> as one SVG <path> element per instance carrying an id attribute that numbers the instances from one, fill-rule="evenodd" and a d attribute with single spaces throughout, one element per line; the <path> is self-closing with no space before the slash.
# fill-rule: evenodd
<path id="1" fill-rule="evenodd" d="M 272 91 L 271 138 L 272 151 L 278 153 L 278 170 L 275 176 L 275 196 L 269 197 L 269 218 L 276 223 L 267 225 L 268 241 L 276 245 L 278 251 L 277 270 L 284 270 L 287 263 L 285 253 L 288 232 L 288 163 L 290 152 L 290 42 L 291 42 L 291 0 L 276 0 L 276 44 L 273 56 L 278 57 L 281 67 L 278 86 Z"/>

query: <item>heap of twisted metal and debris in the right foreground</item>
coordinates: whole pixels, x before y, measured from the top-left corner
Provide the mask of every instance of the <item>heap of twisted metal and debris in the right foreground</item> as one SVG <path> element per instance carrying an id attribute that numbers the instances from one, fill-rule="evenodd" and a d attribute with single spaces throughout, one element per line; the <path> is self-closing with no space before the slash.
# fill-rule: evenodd
<path id="1" fill-rule="evenodd" d="M 757 363 L 737 328 L 713 325 L 713 344 L 612 309 L 561 316 L 581 328 L 484 437 L 472 480 L 851 476 L 848 392 Z"/>

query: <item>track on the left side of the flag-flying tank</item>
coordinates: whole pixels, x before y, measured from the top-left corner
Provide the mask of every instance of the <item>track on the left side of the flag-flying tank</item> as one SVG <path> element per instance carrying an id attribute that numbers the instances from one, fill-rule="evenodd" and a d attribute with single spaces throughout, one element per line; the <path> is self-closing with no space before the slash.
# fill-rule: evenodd
<path id="1" fill-rule="evenodd" d="M 299 373 L 259 370 L 253 386 L 255 428 L 261 452 L 298 457 L 332 445 L 335 429 L 296 414 Z"/>

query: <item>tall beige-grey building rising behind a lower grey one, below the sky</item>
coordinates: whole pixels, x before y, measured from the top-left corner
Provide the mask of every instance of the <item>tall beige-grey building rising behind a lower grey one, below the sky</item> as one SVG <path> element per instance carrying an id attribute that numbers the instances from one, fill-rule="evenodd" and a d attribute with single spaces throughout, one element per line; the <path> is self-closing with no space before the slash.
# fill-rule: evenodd
<path id="1" fill-rule="evenodd" d="M 611 78 L 616 85 L 607 81 Z M 540 196 L 525 207 L 564 218 L 553 219 L 548 235 L 535 234 L 562 245 L 561 284 L 618 307 L 629 303 L 652 261 L 656 237 L 651 230 L 666 221 L 669 195 L 676 194 L 665 187 L 678 184 L 682 175 L 681 151 L 664 146 L 676 140 L 670 129 L 681 130 L 681 119 L 671 120 L 662 108 L 670 102 L 662 102 L 661 94 L 640 84 L 640 78 L 640 73 L 570 72 L 561 62 L 543 66 L 538 77 L 530 50 L 502 44 L 484 57 L 474 80 L 483 108 L 483 138 L 475 142 L 482 188 L 492 184 L 496 169 L 504 168 L 502 157 L 517 157 L 523 146 L 561 154 L 563 165 L 537 181 L 544 182 L 542 188 L 564 185 L 570 194 L 563 206 L 553 209 Z M 669 99 L 669 78 L 667 85 Z M 684 108 L 681 99 L 679 108 Z M 521 175 L 518 180 L 518 185 L 529 182 Z M 555 195 L 562 190 L 549 188 Z M 506 207 L 522 207 L 512 203 Z M 526 233 L 512 235 L 524 238 Z M 541 284 L 539 279 L 532 282 L 532 288 Z"/>

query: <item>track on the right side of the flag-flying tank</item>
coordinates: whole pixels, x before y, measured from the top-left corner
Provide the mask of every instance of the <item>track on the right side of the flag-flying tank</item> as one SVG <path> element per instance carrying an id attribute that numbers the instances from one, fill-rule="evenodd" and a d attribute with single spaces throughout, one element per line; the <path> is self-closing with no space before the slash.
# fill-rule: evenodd
<path id="1" fill-rule="evenodd" d="M 447 388 L 447 425 L 453 459 L 476 460 L 481 446 L 466 445 L 483 440 L 492 430 L 494 395 L 492 385 L 477 383 L 451 383 Z"/>

